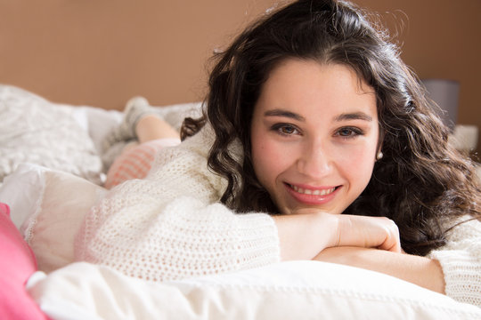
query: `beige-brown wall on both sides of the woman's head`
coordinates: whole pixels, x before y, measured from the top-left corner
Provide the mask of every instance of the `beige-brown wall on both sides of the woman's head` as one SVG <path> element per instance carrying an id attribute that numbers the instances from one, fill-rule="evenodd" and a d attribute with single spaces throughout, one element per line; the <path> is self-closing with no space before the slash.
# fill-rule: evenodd
<path id="1" fill-rule="evenodd" d="M 355 2 L 398 30 L 402 57 L 421 78 L 461 82 L 459 123 L 481 129 L 481 1 Z M 102 108 L 123 108 L 136 94 L 157 105 L 201 100 L 211 52 L 274 3 L 0 0 L 0 83 Z"/>

